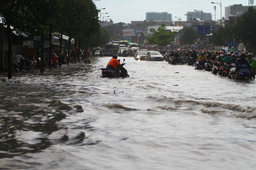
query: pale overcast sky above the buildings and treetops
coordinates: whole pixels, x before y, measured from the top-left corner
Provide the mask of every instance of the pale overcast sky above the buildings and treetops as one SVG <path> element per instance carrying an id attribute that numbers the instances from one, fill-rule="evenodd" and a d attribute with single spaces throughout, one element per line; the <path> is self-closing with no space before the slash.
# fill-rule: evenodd
<path id="1" fill-rule="evenodd" d="M 215 12 L 213 6 L 216 6 L 216 20 L 220 19 L 220 4 L 211 4 L 211 2 L 222 2 L 222 16 L 225 17 L 225 7 L 234 4 L 249 5 L 249 0 L 99 0 L 94 1 L 98 9 L 101 10 L 101 20 L 112 19 L 114 23 L 145 20 L 146 12 L 168 12 L 172 14 L 172 20 L 181 17 L 186 20 L 186 14 L 189 11 L 202 10 L 212 13 L 214 20 Z M 251 5 L 251 4 L 250 4 Z M 255 5 L 255 4 L 254 4 Z M 108 13 L 108 14 L 103 14 Z M 103 18 L 104 16 L 104 18 Z M 109 17 L 106 17 L 109 16 Z M 100 17 L 100 16 L 99 16 Z"/>

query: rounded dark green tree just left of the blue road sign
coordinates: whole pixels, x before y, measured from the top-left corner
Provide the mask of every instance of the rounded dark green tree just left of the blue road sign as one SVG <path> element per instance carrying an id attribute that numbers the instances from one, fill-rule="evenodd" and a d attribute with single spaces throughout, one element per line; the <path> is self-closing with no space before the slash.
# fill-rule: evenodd
<path id="1" fill-rule="evenodd" d="M 191 27 L 183 27 L 179 42 L 183 45 L 194 44 L 197 39 L 197 33 Z"/>

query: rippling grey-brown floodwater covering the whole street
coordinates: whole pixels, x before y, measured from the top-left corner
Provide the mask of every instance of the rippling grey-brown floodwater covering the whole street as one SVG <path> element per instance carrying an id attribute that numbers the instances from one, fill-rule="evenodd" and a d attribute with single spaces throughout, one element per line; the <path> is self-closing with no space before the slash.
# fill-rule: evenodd
<path id="1" fill-rule="evenodd" d="M 99 78 L 110 58 L 1 73 L 0 169 L 256 169 L 255 80 L 132 57 Z"/>

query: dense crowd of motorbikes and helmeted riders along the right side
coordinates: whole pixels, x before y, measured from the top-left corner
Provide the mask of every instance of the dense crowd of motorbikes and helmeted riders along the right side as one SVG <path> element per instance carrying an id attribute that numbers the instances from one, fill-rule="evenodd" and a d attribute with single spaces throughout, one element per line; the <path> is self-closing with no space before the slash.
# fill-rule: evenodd
<path id="1" fill-rule="evenodd" d="M 200 53 L 203 51 L 195 51 L 190 50 L 190 52 L 182 52 L 178 50 L 173 50 L 172 53 L 167 51 L 161 52 L 167 61 L 170 64 L 187 64 L 194 66 L 195 69 L 198 70 L 205 70 L 212 72 L 212 74 L 220 75 L 223 77 L 227 77 L 230 79 L 238 79 L 238 80 L 248 80 L 248 79 L 255 79 L 255 73 L 253 69 L 249 68 L 247 64 L 239 65 L 239 69 L 237 69 L 236 62 L 222 62 L 222 60 L 217 60 L 223 52 L 213 52 L 213 51 L 206 51 L 207 58 L 211 58 L 213 53 L 215 53 L 216 60 L 198 60 L 197 58 L 200 56 Z M 193 54 L 197 54 L 194 55 Z M 224 56 L 227 55 L 228 52 L 224 52 Z M 232 53 L 232 52 L 231 52 Z M 248 53 L 248 52 L 247 52 Z M 238 56 L 236 57 L 238 59 Z"/>

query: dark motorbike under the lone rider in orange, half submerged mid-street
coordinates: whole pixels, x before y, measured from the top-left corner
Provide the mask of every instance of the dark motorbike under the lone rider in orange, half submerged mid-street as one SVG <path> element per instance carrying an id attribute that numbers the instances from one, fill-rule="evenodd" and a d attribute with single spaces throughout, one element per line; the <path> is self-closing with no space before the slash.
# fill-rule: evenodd
<path id="1" fill-rule="evenodd" d="M 124 58 L 125 61 L 125 58 Z M 101 71 L 101 78 L 126 78 L 129 77 L 127 70 L 123 67 L 125 65 L 125 63 L 121 64 L 121 67 L 119 68 L 118 72 L 112 70 L 112 69 L 108 69 L 108 68 L 100 68 Z"/>

